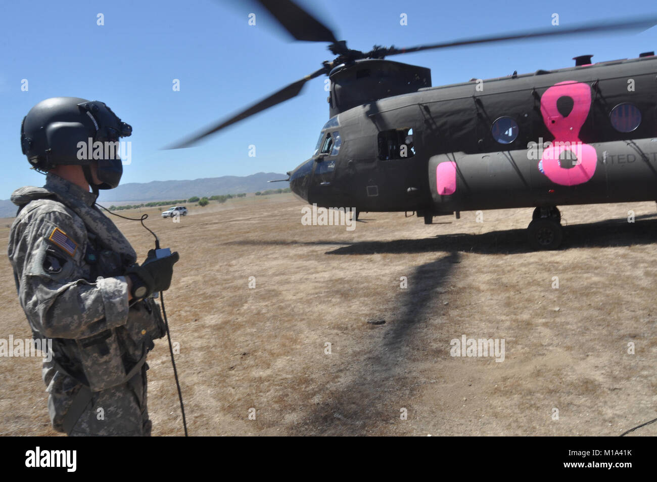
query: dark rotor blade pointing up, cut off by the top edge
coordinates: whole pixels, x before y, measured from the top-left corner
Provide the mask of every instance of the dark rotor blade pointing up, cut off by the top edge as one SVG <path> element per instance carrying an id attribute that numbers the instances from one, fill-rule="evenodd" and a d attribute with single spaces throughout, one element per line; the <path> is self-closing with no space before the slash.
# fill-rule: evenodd
<path id="1" fill-rule="evenodd" d="M 258 0 L 297 40 L 336 43 L 333 32 L 292 0 Z"/>

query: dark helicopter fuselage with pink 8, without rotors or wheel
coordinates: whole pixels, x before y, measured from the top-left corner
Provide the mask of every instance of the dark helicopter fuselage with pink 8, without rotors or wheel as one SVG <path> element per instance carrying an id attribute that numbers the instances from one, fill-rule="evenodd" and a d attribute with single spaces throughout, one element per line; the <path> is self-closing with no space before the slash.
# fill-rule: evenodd
<path id="1" fill-rule="evenodd" d="M 308 203 L 461 210 L 657 199 L 657 57 L 422 88 L 349 108 L 290 175 Z"/>

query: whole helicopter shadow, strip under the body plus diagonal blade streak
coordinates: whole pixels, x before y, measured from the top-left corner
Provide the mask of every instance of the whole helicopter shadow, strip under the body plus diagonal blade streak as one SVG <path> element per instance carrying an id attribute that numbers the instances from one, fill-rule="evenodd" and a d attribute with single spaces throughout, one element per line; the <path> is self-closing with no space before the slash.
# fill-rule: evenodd
<path id="1" fill-rule="evenodd" d="M 564 249 L 614 247 L 650 244 L 657 233 L 657 219 L 641 216 L 643 221 L 627 220 L 566 226 Z M 639 219 L 639 216 L 637 216 Z M 319 243 L 327 243 L 321 241 Z M 317 243 L 317 244 L 319 244 Z M 306 243 L 312 244 L 312 243 Z M 524 253 L 531 251 L 524 229 L 493 231 L 482 235 L 438 235 L 428 239 L 351 243 L 327 254 L 418 253 L 447 251 L 440 258 L 417 266 L 408 277 L 407 290 L 391 295 L 394 308 L 380 318 L 357 320 L 362 329 L 371 329 L 371 343 L 356 368 L 340 372 L 336 383 L 327 385 L 319 402 L 292 429 L 293 435 L 378 435 L 389 431 L 399 420 L 399 407 L 422 385 L 438 380 L 423 380 L 411 370 L 413 359 L 433 356 L 437 363 L 449 358 L 449 346 L 427 352 L 422 333 L 443 304 L 442 288 L 461 262 L 463 251 L 476 253 Z M 371 322 L 372 324 L 368 324 Z M 384 322 L 384 323 L 383 323 Z M 382 330 L 382 333 L 376 331 Z M 432 328 L 433 337 L 438 334 Z M 420 354 L 420 351 L 421 354 Z M 420 354 L 420 355 L 419 355 Z M 338 374 L 338 375 L 340 375 Z M 344 378 L 348 377 L 348 378 Z M 440 378 L 440 375 L 437 375 Z M 440 423 L 440 420 L 435 422 Z"/>

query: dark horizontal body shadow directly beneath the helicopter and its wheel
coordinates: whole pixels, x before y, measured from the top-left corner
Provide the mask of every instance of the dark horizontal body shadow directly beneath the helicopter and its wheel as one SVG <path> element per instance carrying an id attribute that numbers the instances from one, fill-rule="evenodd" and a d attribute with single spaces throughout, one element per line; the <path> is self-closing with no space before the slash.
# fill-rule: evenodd
<path id="1" fill-rule="evenodd" d="M 560 249 L 648 245 L 657 241 L 654 215 L 564 226 Z M 326 254 L 430 253 L 434 251 L 479 254 L 518 254 L 535 251 L 528 243 L 526 229 L 504 229 L 482 234 L 438 234 L 423 239 L 361 241 L 350 243 Z"/>

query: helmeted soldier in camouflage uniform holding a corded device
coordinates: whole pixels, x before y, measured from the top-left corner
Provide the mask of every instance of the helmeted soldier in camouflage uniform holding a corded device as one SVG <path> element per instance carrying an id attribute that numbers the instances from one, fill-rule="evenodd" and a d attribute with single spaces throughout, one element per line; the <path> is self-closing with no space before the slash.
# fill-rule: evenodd
<path id="1" fill-rule="evenodd" d="M 151 295 L 168 289 L 178 254 L 151 250 L 136 264 L 95 206 L 98 189 L 118 185 L 120 157 L 79 158 L 80 141 L 130 133 L 104 103 L 76 97 L 42 101 L 21 128 L 23 153 L 47 176 L 12 194 L 9 260 L 34 337 L 53 339 L 43 381 L 53 428 L 68 435 L 150 435 L 146 358 L 165 333 Z"/>

